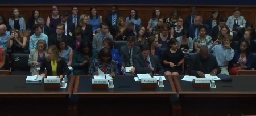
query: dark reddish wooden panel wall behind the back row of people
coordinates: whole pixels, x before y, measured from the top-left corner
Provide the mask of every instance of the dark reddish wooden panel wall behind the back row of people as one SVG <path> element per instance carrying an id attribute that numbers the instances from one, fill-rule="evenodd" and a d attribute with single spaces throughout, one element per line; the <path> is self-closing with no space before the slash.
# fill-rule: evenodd
<path id="1" fill-rule="evenodd" d="M 52 5 L 0 5 L 0 15 L 5 16 L 6 21 L 11 16 L 11 10 L 16 7 L 18 8 L 20 14 L 27 20 L 32 15 L 32 10 L 39 10 L 40 16 L 42 16 L 45 20 L 51 14 L 51 6 Z M 79 7 L 79 14 L 88 14 L 90 13 L 90 6 L 93 5 L 77 5 Z M 104 19 L 105 15 L 110 12 L 112 5 L 94 5 L 97 7 L 97 12 Z M 197 7 L 197 15 L 203 16 L 204 20 L 211 15 L 211 12 L 214 8 L 220 10 L 220 16 L 230 16 L 233 14 L 233 10 L 235 7 L 241 8 L 241 15 L 245 17 L 247 21 L 253 22 L 256 24 L 255 16 L 256 16 L 256 6 L 234 6 L 234 5 L 118 5 L 118 12 L 120 12 L 124 17 L 129 15 L 129 11 L 131 8 L 135 8 L 138 11 L 138 16 L 141 18 L 142 24 L 147 26 L 147 22 L 151 17 L 151 12 L 155 7 L 160 8 L 160 12 L 163 16 L 170 16 L 171 10 L 177 8 L 180 10 L 180 16 L 185 18 L 185 16 L 189 15 L 189 9 L 191 6 Z M 71 5 L 58 5 L 59 11 L 65 10 L 71 13 Z"/>

